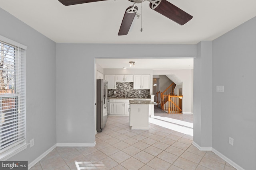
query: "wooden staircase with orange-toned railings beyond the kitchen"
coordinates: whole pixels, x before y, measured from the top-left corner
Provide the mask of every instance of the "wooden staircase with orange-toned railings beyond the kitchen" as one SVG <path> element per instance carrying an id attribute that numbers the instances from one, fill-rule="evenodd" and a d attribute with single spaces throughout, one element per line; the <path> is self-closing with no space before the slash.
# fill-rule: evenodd
<path id="1" fill-rule="evenodd" d="M 174 94 L 176 84 L 172 83 L 164 92 L 156 93 L 156 102 L 168 113 L 182 113 L 182 96 Z"/>

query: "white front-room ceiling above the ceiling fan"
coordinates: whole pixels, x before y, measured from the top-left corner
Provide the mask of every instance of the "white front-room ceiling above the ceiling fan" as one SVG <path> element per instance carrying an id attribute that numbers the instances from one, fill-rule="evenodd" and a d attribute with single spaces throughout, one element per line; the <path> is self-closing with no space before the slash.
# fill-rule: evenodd
<path id="1" fill-rule="evenodd" d="M 256 16 L 256 0 L 168 0 L 193 18 L 185 25 L 137 4 L 128 35 L 118 36 L 124 12 L 132 2 L 106 0 L 64 6 L 58 0 L 0 0 L 0 8 L 56 43 L 196 44 L 213 40 Z"/>

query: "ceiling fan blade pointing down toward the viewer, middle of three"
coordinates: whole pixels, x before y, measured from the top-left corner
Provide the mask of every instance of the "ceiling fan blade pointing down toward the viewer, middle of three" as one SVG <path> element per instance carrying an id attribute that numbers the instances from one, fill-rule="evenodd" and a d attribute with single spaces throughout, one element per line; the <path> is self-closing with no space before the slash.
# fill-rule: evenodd
<path id="1" fill-rule="evenodd" d="M 132 25 L 132 21 L 136 15 L 136 12 L 138 10 L 137 6 L 129 6 L 125 13 L 124 18 L 122 20 L 118 35 L 127 35 L 129 32 L 129 29 Z"/>

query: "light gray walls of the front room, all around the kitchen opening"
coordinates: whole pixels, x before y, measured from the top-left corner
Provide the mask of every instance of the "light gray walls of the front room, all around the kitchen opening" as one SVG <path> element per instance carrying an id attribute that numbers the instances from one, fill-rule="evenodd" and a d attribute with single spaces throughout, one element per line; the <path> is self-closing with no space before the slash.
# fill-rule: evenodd
<path id="1" fill-rule="evenodd" d="M 56 143 L 94 143 L 94 58 L 130 58 L 132 50 L 134 58 L 197 56 L 194 142 L 246 170 L 255 169 L 256 18 L 198 45 L 56 45 L 2 9 L 0 16 L 8 23 L 1 25 L 0 34 L 28 47 L 27 140 L 34 138 L 35 146 L 11 160 L 30 163 Z M 216 92 L 217 85 L 224 85 L 223 93 Z M 234 146 L 228 145 L 228 137 L 234 138 Z"/>

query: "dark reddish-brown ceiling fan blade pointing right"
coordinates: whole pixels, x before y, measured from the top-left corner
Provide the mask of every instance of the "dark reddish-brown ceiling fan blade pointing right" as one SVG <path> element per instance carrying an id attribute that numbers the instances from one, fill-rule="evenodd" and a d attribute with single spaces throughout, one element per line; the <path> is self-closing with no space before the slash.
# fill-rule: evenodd
<path id="1" fill-rule="evenodd" d="M 155 0 L 154 2 L 155 4 L 150 3 L 150 8 L 152 10 L 166 16 L 170 20 L 175 21 L 180 25 L 184 25 L 193 18 L 193 16 L 190 14 L 166 0 Z"/>

